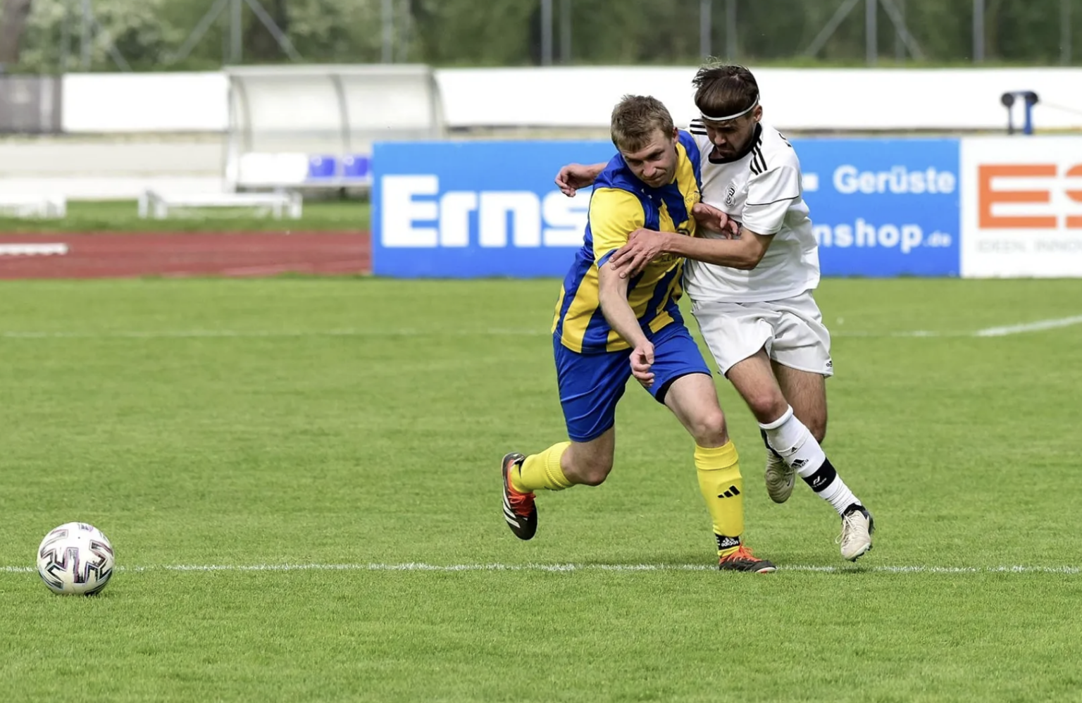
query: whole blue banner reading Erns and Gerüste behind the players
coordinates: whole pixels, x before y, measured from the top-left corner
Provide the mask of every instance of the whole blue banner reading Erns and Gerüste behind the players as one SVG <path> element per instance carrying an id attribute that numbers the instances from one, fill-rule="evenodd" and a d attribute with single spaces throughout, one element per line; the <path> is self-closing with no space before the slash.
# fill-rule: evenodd
<path id="1" fill-rule="evenodd" d="M 958 140 L 797 140 L 824 276 L 956 276 Z M 582 244 L 590 193 L 553 185 L 609 142 L 377 143 L 373 273 L 559 277 Z M 705 168 L 710 168 L 704 164 Z"/>

